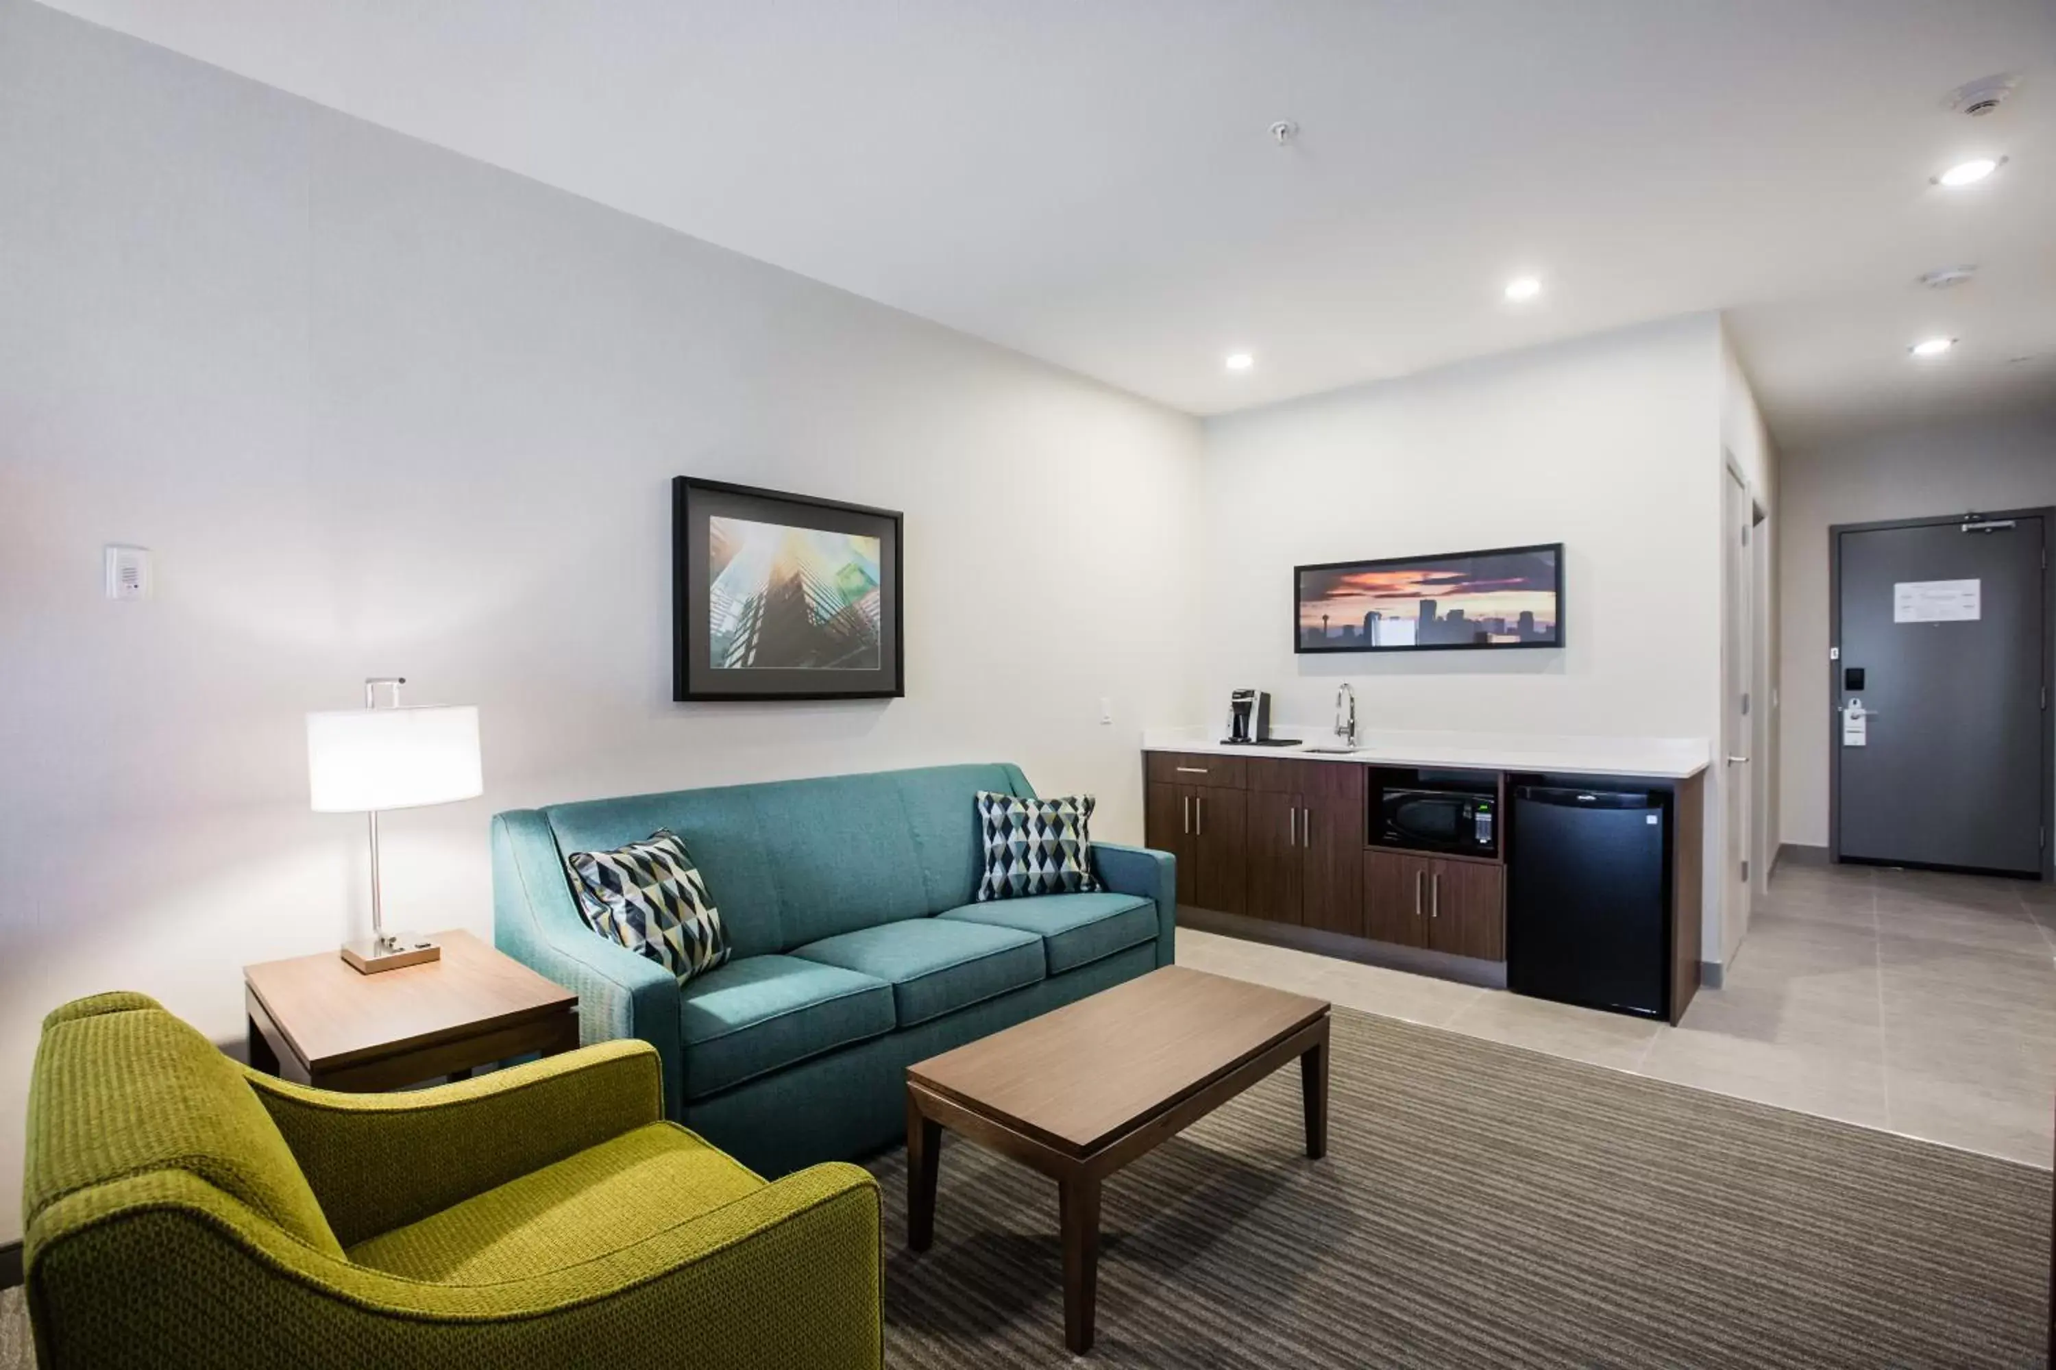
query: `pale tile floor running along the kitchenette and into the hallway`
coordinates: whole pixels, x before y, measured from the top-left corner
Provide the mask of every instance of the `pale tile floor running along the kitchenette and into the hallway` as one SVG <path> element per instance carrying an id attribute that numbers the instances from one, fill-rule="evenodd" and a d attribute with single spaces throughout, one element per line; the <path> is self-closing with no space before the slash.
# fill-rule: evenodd
<path id="1" fill-rule="evenodd" d="M 1178 961 L 2048 1169 L 2056 887 L 1780 865 L 1680 1027 L 1190 928 Z"/>

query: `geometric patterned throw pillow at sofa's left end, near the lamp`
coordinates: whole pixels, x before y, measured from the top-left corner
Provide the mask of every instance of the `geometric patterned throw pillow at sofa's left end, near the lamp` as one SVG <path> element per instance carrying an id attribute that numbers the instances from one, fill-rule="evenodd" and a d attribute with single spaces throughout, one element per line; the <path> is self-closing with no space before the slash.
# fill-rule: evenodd
<path id="1" fill-rule="evenodd" d="M 728 959 L 722 910 L 668 828 L 611 852 L 572 852 L 567 865 L 586 926 L 650 957 L 678 984 Z"/>

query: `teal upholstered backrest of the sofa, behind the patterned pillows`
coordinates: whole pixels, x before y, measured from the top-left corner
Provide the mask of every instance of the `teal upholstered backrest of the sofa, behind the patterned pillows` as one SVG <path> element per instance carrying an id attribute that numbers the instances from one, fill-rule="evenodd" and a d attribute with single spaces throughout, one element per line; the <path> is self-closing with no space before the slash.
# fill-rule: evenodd
<path id="1" fill-rule="evenodd" d="M 968 904 L 983 873 L 979 791 L 1032 795 L 1018 766 L 685 789 L 543 809 L 559 854 L 670 828 L 707 881 L 736 957 Z"/>

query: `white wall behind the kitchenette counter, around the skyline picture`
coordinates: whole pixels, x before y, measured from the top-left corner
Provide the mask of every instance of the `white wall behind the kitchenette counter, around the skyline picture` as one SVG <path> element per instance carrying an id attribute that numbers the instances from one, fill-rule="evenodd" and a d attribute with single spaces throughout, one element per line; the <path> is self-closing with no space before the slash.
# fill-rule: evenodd
<path id="1" fill-rule="evenodd" d="M 1723 396 L 1698 314 L 1211 419 L 1207 717 L 1324 727 L 1347 680 L 1365 729 L 1717 737 Z M 1563 651 L 1293 655 L 1293 565 L 1558 540 Z"/>

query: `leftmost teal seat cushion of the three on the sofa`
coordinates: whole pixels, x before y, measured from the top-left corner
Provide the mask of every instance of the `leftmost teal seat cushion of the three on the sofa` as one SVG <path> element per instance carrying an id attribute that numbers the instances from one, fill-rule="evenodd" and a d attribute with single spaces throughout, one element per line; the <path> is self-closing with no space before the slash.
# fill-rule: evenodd
<path id="1" fill-rule="evenodd" d="M 678 990 L 685 1095 L 703 1099 L 892 1025 L 884 980 L 787 955 L 730 961 Z"/>

